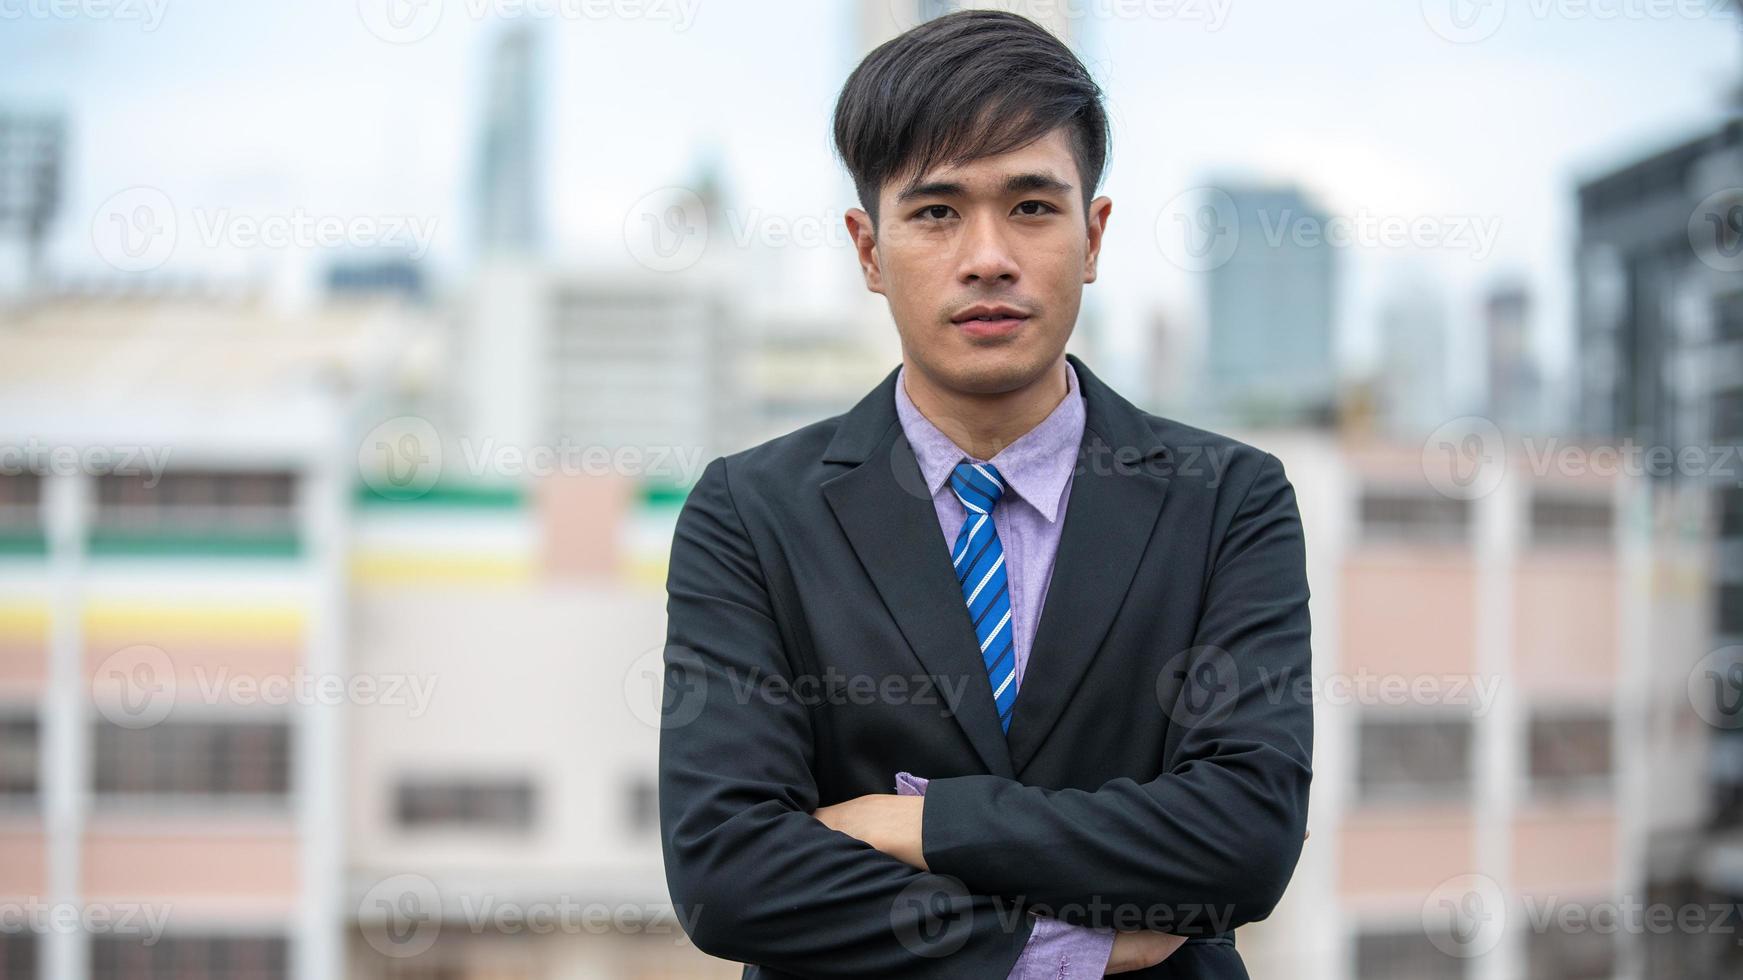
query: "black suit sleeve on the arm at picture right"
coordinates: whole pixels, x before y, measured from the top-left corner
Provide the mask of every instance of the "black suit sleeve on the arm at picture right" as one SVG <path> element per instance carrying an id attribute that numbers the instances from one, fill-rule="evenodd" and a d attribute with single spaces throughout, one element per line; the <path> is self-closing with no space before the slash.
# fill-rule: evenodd
<path id="1" fill-rule="evenodd" d="M 1271 914 L 1307 827 L 1311 643 L 1295 492 L 1276 457 L 1253 469 L 1192 647 L 1157 657 L 1157 670 L 1183 675 L 1180 698 L 1157 704 L 1170 715 L 1168 769 L 1093 792 L 934 778 L 922 821 L 931 870 L 1046 909 L 1110 907 L 1185 936 Z M 978 832 L 988 814 L 997 837 Z"/>

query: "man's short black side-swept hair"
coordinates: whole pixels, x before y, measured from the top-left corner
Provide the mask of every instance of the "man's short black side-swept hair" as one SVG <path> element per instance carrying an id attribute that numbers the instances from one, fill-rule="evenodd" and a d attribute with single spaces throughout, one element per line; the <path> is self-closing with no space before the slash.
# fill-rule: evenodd
<path id="1" fill-rule="evenodd" d="M 1007 153 L 1065 124 L 1088 213 L 1110 141 L 1100 85 L 1041 24 L 959 10 L 896 35 L 854 68 L 835 101 L 835 152 L 875 227 L 885 181 Z"/>

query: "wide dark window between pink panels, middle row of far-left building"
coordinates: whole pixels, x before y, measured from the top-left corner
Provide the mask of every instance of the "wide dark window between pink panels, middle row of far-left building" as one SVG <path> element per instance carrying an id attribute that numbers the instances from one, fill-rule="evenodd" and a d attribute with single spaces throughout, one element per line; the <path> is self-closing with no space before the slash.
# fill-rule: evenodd
<path id="1" fill-rule="evenodd" d="M 286 722 L 164 722 L 145 729 L 99 724 L 99 797 L 286 797 Z"/>

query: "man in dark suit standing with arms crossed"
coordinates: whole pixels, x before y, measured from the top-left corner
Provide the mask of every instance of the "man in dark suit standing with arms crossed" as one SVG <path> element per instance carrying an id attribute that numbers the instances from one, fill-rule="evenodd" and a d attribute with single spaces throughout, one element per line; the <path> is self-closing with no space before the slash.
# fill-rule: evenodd
<path id="1" fill-rule="evenodd" d="M 835 141 L 903 359 L 711 460 L 678 518 L 673 902 L 744 977 L 1243 978 L 1311 781 L 1283 466 L 1065 354 L 1109 133 L 1046 30 L 891 40 Z"/>

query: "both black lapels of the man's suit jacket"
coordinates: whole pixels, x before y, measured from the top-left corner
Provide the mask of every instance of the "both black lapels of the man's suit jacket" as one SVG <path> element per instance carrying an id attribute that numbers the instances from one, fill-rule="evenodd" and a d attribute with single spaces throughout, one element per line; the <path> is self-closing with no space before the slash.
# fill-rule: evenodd
<path id="1" fill-rule="evenodd" d="M 1004 778 L 1034 759 L 1095 659 L 1168 490 L 1164 476 L 1140 466 L 1168 457 L 1143 415 L 1067 357 L 1086 401 L 1084 439 L 1009 736 L 999 729 L 938 513 L 896 419 L 894 370 L 842 419 L 824 450 L 824 462 L 854 464 L 823 483 L 835 520 L 913 654 L 962 692 L 952 717 L 987 771 Z"/>

